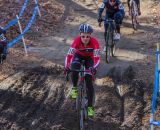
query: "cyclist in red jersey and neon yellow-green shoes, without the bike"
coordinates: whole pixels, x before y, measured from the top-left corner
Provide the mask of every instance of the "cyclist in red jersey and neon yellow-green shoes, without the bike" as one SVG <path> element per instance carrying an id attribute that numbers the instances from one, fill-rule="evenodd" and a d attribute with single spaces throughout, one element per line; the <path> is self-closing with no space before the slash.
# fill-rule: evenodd
<path id="1" fill-rule="evenodd" d="M 82 60 L 84 60 L 85 69 L 91 70 L 91 72 L 96 72 L 97 67 L 100 63 L 100 50 L 99 43 L 96 38 L 92 37 L 93 32 L 92 27 L 89 24 L 81 24 L 79 27 L 79 36 L 77 36 L 72 42 L 65 60 L 65 73 L 70 69 L 81 68 Z M 87 98 L 88 98 L 88 116 L 94 116 L 93 109 L 93 96 L 94 88 L 92 83 L 92 74 L 85 74 L 85 82 L 87 88 Z M 77 97 L 77 83 L 78 83 L 78 72 L 72 72 L 72 91 L 71 98 L 76 99 Z"/>

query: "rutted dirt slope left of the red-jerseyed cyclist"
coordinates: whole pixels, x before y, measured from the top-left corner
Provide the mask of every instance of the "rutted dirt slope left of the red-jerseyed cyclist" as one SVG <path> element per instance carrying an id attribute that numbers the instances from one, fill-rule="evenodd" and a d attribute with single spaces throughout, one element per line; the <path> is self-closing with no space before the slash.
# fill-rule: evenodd
<path id="1" fill-rule="evenodd" d="M 61 72 L 61 67 L 38 67 L 3 80 L 0 128 L 50 129 L 64 100 Z"/>

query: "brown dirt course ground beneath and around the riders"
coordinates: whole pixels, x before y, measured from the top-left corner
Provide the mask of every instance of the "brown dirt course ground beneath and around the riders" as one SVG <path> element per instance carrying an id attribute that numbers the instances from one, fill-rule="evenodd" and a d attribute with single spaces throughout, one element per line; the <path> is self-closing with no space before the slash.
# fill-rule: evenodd
<path id="1" fill-rule="evenodd" d="M 42 29 L 36 34 L 48 32 L 47 35 L 34 34 L 27 39 L 28 56 L 21 45 L 10 49 L 0 68 L 0 129 L 3 130 L 77 130 L 73 102 L 67 98 L 71 84 L 63 75 L 65 55 L 83 22 L 93 26 L 93 36 L 100 42 L 101 50 L 104 46 L 103 27 L 98 27 L 97 23 L 97 2 L 48 0 L 40 3 L 42 12 L 48 5 L 50 10 L 46 9 L 48 13 L 43 12 L 42 17 L 37 18 L 33 28 L 41 24 Z M 154 52 L 159 29 L 154 12 L 148 8 L 152 10 L 157 4 L 142 1 L 140 25 L 138 31 L 133 31 L 126 2 L 123 3 L 126 16 L 116 57 L 106 64 L 101 51 L 95 80 L 96 115 L 92 124 L 86 127 L 88 130 L 149 128 Z M 44 20 L 46 15 L 50 16 L 50 11 L 54 13 L 53 19 L 56 16 L 57 19 L 48 24 Z"/>

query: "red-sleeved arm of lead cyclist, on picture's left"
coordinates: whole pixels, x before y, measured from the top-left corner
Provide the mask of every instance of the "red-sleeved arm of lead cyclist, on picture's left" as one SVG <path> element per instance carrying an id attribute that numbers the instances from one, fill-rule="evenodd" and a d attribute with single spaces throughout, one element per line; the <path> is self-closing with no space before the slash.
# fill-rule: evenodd
<path id="1" fill-rule="evenodd" d="M 75 51 L 76 51 L 77 42 L 78 42 L 77 39 L 75 39 L 72 42 L 72 44 L 71 44 L 71 46 L 68 50 L 68 53 L 67 53 L 67 56 L 66 56 L 66 59 L 65 59 L 65 68 L 70 66 L 70 63 L 71 63 L 71 61 L 73 59 L 73 56 L 75 54 Z"/>

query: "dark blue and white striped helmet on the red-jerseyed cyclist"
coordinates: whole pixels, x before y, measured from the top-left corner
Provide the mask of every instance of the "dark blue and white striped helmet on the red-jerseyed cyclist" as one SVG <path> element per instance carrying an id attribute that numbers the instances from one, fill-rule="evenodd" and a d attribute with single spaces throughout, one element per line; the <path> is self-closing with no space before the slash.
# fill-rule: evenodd
<path id="1" fill-rule="evenodd" d="M 93 28 L 89 24 L 81 24 L 79 26 L 79 32 L 80 33 L 92 33 Z"/>

